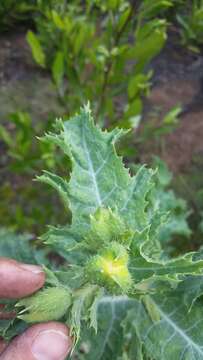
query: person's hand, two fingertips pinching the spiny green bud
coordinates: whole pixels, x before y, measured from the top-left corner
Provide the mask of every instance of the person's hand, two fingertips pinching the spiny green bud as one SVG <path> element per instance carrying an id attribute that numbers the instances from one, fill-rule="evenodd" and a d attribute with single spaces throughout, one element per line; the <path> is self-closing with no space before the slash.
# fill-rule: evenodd
<path id="1" fill-rule="evenodd" d="M 0 298 L 31 295 L 45 281 L 40 266 L 0 258 Z M 2 313 L 0 309 L 0 319 Z M 64 360 L 71 349 L 68 328 L 50 321 L 31 326 L 9 345 L 0 340 L 0 360 Z"/>

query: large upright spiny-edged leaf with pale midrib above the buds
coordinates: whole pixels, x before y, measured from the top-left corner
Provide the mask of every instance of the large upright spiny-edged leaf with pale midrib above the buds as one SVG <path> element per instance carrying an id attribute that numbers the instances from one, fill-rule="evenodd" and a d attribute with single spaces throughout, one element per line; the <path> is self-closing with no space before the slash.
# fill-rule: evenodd
<path id="1" fill-rule="evenodd" d="M 125 132 L 102 132 L 94 125 L 88 107 L 61 127 L 59 134 L 48 134 L 47 139 L 57 143 L 72 161 L 71 179 L 65 190 L 72 228 L 86 231 L 90 215 L 101 207 L 117 209 L 132 228 L 142 228 L 147 222 L 145 196 L 152 186 L 153 172 L 143 167 L 135 177 L 129 175 L 115 152 L 115 142 Z M 42 180 L 51 184 L 54 176 L 45 175 Z M 59 179 L 54 187 L 61 193 Z"/>

